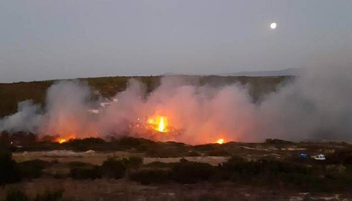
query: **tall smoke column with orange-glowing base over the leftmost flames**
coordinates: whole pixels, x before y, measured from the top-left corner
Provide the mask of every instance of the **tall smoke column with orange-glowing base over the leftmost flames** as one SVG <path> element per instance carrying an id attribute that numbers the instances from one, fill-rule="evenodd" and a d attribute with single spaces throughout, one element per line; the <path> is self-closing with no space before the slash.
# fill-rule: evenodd
<path id="1" fill-rule="evenodd" d="M 95 136 L 93 119 L 87 115 L 91 91 L 86 83 L 61 81 L 47 92 L 46 109 L 39 133 Z"/>

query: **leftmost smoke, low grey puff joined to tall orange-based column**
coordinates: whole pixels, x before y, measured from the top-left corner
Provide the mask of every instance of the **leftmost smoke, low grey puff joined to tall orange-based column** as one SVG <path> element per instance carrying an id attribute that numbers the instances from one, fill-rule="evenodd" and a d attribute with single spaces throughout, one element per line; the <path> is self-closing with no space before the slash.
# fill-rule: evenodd
<path id="1" fill-rule="evenodd" d="M 31 100 L 18 104 L 18 112 L 0 121 L 0 131 L 27 131 L 42 135 L 93 136 L 93 119 L 87 116 L 91 91 L 86 83 L 60 81 L 48 88 L 45 109 Z"/>

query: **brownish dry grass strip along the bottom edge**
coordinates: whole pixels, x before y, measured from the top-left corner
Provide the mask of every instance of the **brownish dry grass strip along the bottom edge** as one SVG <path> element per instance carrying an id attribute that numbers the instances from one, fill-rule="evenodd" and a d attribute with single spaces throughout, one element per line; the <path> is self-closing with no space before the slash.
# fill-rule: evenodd
<path id="1" fill-rule="evenodd" d="M 351 200 L 350 194 L 302 193 L 286 189 L 239 186 L 233 183 L 196 183 L 140 185 L 124 179 L 33 179 L 28 182 L 6 185 L 0 189 L 0 200 L 13 188 L 24 190 L 30 197 L 45 190 L 64 189 L 62 200 L 85 201 L 225 201 L 225 200 Z"/>

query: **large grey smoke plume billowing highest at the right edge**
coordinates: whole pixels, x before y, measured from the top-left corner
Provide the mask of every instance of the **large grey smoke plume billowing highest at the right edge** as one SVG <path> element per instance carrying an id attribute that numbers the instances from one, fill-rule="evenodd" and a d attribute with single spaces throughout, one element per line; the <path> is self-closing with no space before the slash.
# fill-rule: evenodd
<path id="1" fill-rule="evenodd" d="M 266 136 L 352 140 L 352 62 L 336 58 L 312 64 L 293 83 L 266 97 L 257 120 Z"/>

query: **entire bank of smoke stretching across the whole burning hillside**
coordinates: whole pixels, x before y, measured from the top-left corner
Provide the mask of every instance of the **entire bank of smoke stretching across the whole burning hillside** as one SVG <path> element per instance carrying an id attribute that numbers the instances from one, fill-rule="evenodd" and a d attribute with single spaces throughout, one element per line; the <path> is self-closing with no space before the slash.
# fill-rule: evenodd
<path id="1" fill-rule="evenodd" d="M 132 135 L 189 144 L 226 141 L 287 140 L 352 141 L 352 65 L 331 59 L 307 68 L 290 84 L 253 103 L 248 86 L 200 85 L 194 77 L 163 77 L 146 93 L 131 79 L 117 102 L 99 114 L 87 110 L 92 101 L 86 83 L 61 81 L 49 87 L 42 110 L 32 102 L 19 103 L 18 113 L 0 121 L 0 131 L 32 131 L 41 135 L 104 137 Z M 102 98 L 101 98 L 102 99 Z M 132 128 L 152 116 L 167 117 L 179 135 L 151 135 Z"/>

